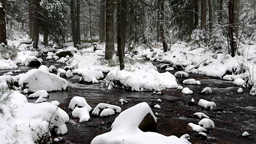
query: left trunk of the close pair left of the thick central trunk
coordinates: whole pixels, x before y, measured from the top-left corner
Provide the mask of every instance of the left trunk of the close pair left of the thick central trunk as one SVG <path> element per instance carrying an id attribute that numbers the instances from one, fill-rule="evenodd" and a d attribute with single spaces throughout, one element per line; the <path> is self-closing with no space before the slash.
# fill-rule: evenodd
<path id="1" fill-rule="evenodd" d="M 74 0 L 70 0 L 70 13 L 71 13 L 71 25 L 72 25 L 73 42 L 74 42 L 74 47 L 76 47 L 77 39 L 76 39 L 76 21 L 75 21 Z"/>

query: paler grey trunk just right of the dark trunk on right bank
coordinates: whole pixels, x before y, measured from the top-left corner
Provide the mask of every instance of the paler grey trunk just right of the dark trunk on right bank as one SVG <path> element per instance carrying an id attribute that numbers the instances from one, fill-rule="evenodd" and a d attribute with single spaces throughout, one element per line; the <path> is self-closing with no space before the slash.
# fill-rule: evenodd
<path id="1" fill-rule="evenodd" d="M 240 0 L 234 0 L 234 27 L 236 28 L 236 38 L 238 38 L 239 31 L 239 14 L 240 14 Z"/>

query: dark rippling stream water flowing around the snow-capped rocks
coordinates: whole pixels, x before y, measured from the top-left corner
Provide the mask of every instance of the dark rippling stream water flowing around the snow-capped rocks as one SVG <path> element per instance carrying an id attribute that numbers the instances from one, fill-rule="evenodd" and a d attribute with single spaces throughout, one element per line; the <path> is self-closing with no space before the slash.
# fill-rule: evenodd
<path id="1" fill-rule="evenodd" d="M 43 58 L 43 64 L 46 66 L 54 65 L 56 68 L 64 68 L 65 64 L 56 64 L 56 61 L 46 61 Z M 154 62 L 154 65 L 159 67 L 160 63 Z M 27 72 L 32 68 L 19 66 L 22 73 Z M 14 70 L 1 70 L 0 75 Z M 165 72 L 159 70 L 159 72 Z M 176 71 L 172 71 L 174 74 Z M 14 73 L 15 75 L 19 73 Z M 193 144 L 256 144 L 256 97 L 249 95 L 249 88 L 243 88 L 243 94 L 237 94 L 239 86 L 234 86 L 231 81 L 216 80 L 207 76 L 198 74 L 190 74 L 189 78 L 194 78 L 201 82 L 201 85 L 183 85 L 188 87 L 194 94 L 182 94 L 181 90 L 168 89 L 162 91 L 163 95 L 156 95 L 152 92 L 130 92 L 122 89 L 100 88 L 99 84 L 84 85 L 78 84 L 80 76 L 67 79 L 69 90 L 63 92 L 49 92 L 47 102 L 58 100 L 60 108 L 65 110 L 70 116 L 71 111 L 68 110 L 70 100 L 74 96 L 82 96 L 88 104 L 95 108 L 98 103 L 109 103 L 120 106 L 122 111 L 130 108 L 140 102 L 147 102 L 153 112 L 158 112 L 159 120 L 157 122 L 157 132 L 165 136 L 175 135 L 182 136 L 183 134 L 190 135 L 190 142 Z M 186 78 L 178 78 L 178 83 L 181 83 Z M 211 95 L 201 95 L 200 92 L 205 88 L 212 89 Z M 28 94 L 26 94 L 28 96 Z M 160 98 L 162 103 L 158 103 Z M 204 110 L 204 108 L 195 105 L 188 106 L 188 102 L 194 98 L 196 103 L 202 98 L 208 101 L 214 101 L 217 109 L 214 111 Z M 118 103 L 120 99 L 128 101 L 128 104 L 121 105 Z M 35 102 L 35 99 L 28 99 L 29 102 Z M 161 109 L 155 109 L 154 105 L 159 104 Z M 188 127 L 188 123 L 198 124 L 200 119 L 190 118 L 195 112 L 204 112 L 211 120 L 214 121 L 215 129 L 207 133 L 208 139 L 203 140 L 197 137 L 197 133 Z M 99 134 L 109 132 L 111 124 L 118 116 L 110 116 L 108 118 L 91 117 L 88 122 L 79 123 L 79 119 L 70 118 L 67 124 L 68 133 L 62 136 L 52 135 L 55 137 L 64 138 L 65 144 L 90 144 L 92 139 Z M 249 132 L 248 138 L 243 138 L 241 135 L 244 131 Z"/>

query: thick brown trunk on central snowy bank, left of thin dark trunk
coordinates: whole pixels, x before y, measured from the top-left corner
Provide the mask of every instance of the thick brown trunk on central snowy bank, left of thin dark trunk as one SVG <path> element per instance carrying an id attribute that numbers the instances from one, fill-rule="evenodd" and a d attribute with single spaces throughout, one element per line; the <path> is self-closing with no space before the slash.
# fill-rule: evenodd
<path id="1" fill-rule="evenodd" d="M 114 0 L 106 0 L 106 51 L 105 60 L 110 60 L 114 49 Z"/>

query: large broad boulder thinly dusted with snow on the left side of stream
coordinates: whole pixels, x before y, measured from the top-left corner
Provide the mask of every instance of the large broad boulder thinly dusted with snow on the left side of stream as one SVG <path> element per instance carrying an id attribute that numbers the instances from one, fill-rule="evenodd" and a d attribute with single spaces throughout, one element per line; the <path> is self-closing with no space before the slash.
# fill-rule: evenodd
<path id="1" fill-rule="evenodd" d="M 46 90 L 47 92 L 68 90 L 68 82 L 65 79 L 38 69 L 26 72 L 20 77 L 18 84 L 23 89 L 28 88 L 30 92 L 38 90 Z"/>

